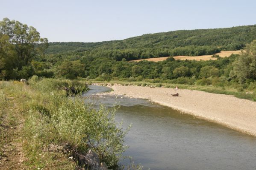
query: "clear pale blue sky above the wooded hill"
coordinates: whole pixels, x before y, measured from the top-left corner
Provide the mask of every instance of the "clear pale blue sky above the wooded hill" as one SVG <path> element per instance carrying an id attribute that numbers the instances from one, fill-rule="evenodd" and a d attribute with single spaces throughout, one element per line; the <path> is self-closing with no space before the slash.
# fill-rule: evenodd
<path id="1" fill-rule="evenodd" d="M 256 24 L 256 0 L 0 0 L 49 42 L 123 40 L 181 29 Z"/>

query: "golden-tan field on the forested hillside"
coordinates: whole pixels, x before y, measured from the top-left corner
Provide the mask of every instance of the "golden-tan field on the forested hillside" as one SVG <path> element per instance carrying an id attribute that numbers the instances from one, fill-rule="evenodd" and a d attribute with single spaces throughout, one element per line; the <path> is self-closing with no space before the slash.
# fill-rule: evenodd
<path id="1" fill-rule="evenodd" d="M 216 53 L 215 55 L 219 55 L 220 57 L 230 57 L 231 54 L 240 54 L 241 51 L 237 50 L 237 51 L 221 51 L 220 53 Z M 148 61 L 154 61 L 154 62 L 158 62 L 158 61 L 163 61 L 165 59 L 167 59 L 168 57 L 158 57 L 158 58 L 149 58 L 149 59 L 136 59 L 136 60 L 131 60 L 131 61 L 135 61 L 135 62 L 139 62 L 141 60 L 148 60 Z M 217 58 L 213 58 L 212 55 L 204 55 L 204 56 L 175 56 L 174 59 L 180 59 L 180 60 L 215 60 Z"/>

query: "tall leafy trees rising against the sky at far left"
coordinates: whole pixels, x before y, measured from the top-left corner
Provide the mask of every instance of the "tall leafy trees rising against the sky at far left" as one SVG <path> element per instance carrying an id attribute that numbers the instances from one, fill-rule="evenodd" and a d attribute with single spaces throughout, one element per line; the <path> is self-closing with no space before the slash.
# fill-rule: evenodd
<path id="1" fill-rule="evenodd" d="M 0 79 L 31 77 L 30 62 L 47 46 L 48 40 L 32 26 L 4 18 L 0 21 Z"/>

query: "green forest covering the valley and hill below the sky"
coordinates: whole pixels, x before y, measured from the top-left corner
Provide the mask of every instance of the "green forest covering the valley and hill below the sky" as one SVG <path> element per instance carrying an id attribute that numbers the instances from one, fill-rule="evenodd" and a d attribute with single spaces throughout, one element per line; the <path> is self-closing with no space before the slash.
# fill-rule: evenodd
<path id="1" fill-rule="evenodd" d="M 0 79 L 56 77 L 98 81 L 170 82 L 186 85 L 256 87 L 256 26 L 181 30 L 120 41 L 50 42 L 38 31 L 8 18 L 0 21 Z M 128 62 L 144 57 L 215 54 L 244 49 L 241 55 L 209 61 Z"/>

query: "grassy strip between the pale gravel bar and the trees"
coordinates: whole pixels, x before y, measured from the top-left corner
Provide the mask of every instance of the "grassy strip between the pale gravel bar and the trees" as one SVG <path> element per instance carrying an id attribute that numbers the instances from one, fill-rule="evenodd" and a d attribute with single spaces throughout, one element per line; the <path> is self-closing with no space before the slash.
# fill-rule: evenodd
<path id="1" fill-rule="evenodd" d="M 182 89 L 191 89 L 198 91 L 205 91 L 215 94 L 227 94 L 233 95 L 240 99 L 248 99 L 256 101 L 256 89 L 248 88 L 243 89 L 241 87 L 231 87 L 231 86 L 212 86 L 212 85 L 184 85 L 184 84 L 174 84 L 166 82 L 154 82 L 155 80 L 144 80 L 144 81 L 86 81 L 88 84 L 99 83 L 101 85 L 136 85 L 136 86 L 148 86 L 148 87 L 163 87 L 163 88 L 175 88 L 178 86 Z"/>

